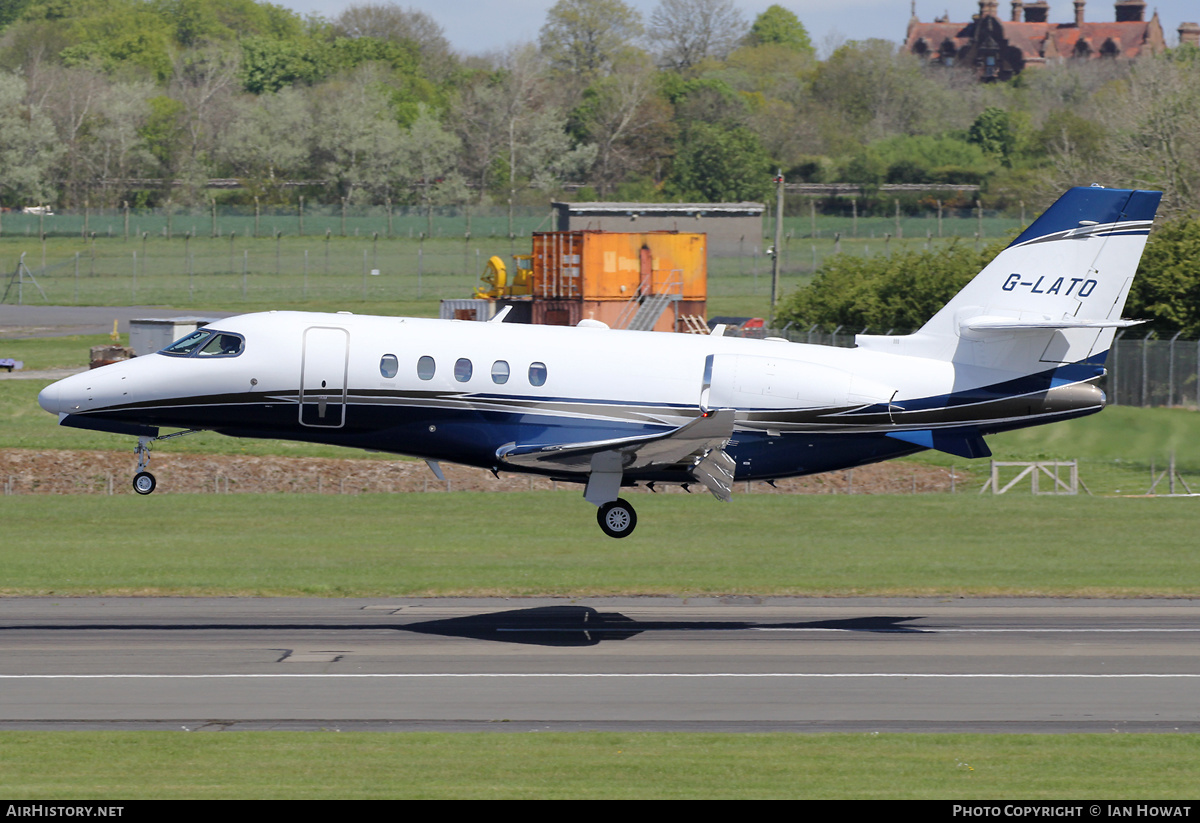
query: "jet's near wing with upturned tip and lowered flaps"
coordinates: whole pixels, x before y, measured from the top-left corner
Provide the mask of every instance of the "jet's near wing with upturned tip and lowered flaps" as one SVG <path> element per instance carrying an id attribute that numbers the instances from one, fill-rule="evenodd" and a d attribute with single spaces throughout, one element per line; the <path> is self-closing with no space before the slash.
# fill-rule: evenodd
<path id="1" fill-rule="evenodd" d="M 662 434 L 553 445 L 510 443 L 498 449 L 496 456 L 509 465 L 577 474 L 590 473 L 601 463 L 622 473 L 682 463 L 714 494 L 728 499 L 728 492 L 719 493 L 713 486 L 728 486 L 732 491 L 733 459 L 724 451 L 732 434 L 733 409 L 716 409 Z M 727 482 L 719 482 L 725 480 L 722 475 L 727 475 Z"/>

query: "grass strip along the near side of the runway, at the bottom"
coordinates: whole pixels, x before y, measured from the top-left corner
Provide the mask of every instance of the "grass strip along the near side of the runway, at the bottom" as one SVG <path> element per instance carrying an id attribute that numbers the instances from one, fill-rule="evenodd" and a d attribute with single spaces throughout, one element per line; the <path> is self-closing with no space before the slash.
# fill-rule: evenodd
<path id="1" fill-rule="evenodd" d="M 1190 800 L 1200 746 L 1166 734 L 0 732 L 0 763 L 8 801 Z"/>

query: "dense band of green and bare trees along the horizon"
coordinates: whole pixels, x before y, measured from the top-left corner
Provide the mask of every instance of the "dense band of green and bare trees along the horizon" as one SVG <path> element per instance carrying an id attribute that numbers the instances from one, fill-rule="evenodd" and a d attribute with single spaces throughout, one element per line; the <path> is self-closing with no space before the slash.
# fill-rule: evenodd
<path id="1" fill-rule="evenodd" d="M 751 20 L 734 0 L 660 0 L 644 19 L 559 0 L 528 43 L 481 55 L 395 4 L 323 19 L 256 0 L 10 0 L 0 26 L 10 208 L 545 203 L 565 186 L 742 200 L 776 168 L 868 192 L 972 182 L 994 208 L 1093 181 L 1162 188 L 1165 214 L 1200 196 L 1188 47 L 982 84 L 888 41 L 818 53 L 793 12 Z M 211 178 L 242 187 L 215 194 Z"/>

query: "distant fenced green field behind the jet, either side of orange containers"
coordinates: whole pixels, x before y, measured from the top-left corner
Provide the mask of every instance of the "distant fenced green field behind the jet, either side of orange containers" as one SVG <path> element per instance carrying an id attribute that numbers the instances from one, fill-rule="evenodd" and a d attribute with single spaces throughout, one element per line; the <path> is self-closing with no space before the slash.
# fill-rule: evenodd
<path id="1" fill-rule="evenodd" d="M 7 220 L 7 218 L 6 218 Z M 840 248 L 850 254 L 890 253 L 905 248 L 954 242 L 954 230 L 965 233 L 960 242 L 976 242 L 974 221 L 948 221 L 953 226 L 938 239 L 935 223 L 911 221 L 902 239 L 884 239 L 894 227 L 888 221 L 859 221 L 858 236 L 850 223 L 822 221 L 816 238 L 803 238 L 804 228 L 784 244 L 780 260 L 780 296 L 808 282 L 824 259 Z M 188 226 L 191 226 L 188 223 Z M 836 228 L 841 227 L 841 229 Z M 344 310 L 382 314 L 437 317 L 442 299 L 469 298 L 493 254 L 505 262 L 529 253 L 529 236 L 458 235 L 414 239 L 403 233 L 392 238 L 360 235 L 306 236 L 262 228 L 260 236 L 245 233 L 210 236 L 176 233 L 124 240 L 100 236 L 56 236 L 42 241 L 34 235 L 5 232 L 0 235 L 0 277 L 7 287 L 24 256 L 32 280 L 17 278 L 7 301 L 38 305 L 126 306 L 162 305 L 194 312 L 220 307 L 224 311 L 263 308 Z M 1015 228 L 1012 221 L 990 222 L 988 238 L 1003 236 Z M 187 229 L 190 230 L 190 229 Z M 841 230 L 840 245 L 834 234 Z M 182 230 L 181 230 L 182 232 Z M 932 239 L 926 234 L 932 233 Z M 419 233 L 418 233 L 419 234 Z M 748 241 L 736 257 L 709 259 L 708 314 L 766 317 L 770 302 L 769 244 Z M 372 274 L 377 272 L 377 274 Z M 36 283 L 35 283 L 36 281 Z M 19 294 L 18 294 L 19 293 Z M 44 295 L 44 296 L 43 296 Z"/>

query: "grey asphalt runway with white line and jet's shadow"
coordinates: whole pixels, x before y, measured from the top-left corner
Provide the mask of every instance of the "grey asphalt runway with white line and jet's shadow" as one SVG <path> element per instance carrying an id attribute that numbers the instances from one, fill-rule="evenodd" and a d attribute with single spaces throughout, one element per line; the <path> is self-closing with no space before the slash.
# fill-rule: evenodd
<path id="1" fill-rule="evenodd" d="M 0 728 L 1200 731 L 1200 601 L 0 600 Z"/>

